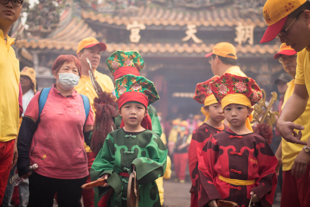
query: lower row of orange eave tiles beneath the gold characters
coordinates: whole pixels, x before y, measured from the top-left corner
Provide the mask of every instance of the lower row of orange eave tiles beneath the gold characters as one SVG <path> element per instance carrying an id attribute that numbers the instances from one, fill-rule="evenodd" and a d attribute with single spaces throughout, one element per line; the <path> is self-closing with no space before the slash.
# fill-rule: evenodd
<path id="1" fill-rule="evenodd" d="M 67 34 L 64 31 L 64 34 Z M 84 34 L 84 33 L 82 33 Z M 67 34 L 67 35 L 72 35 L 72 34 Z M 67 36 L 64 35 L 64 36 Z M 79 36 L 76 35 L 75 33 L 73 36 Z M 25 48 L 32 48 L 32 49 L 56 49 L 56 50 L 67 50 L 67 51 L 76 51 L 78 47 L 78 40 L 77 39 L 82 39 L 86 36 L 91 36 L 91 35 L 83 35 L 79 36 L 79 38 L 71 38 L 71 41 L 64 41 L 64 40 L 59 40 L 59 39 L 54 39 L 54 38 L 49 38 L 49 39 L 39 39 L 39 40 L 31 40 L 31 39 L 22 39 L 18 40 L 16 42 L 16 46 L 19 48 L 25 47 Z M 65 39 L 65 38 L 63 38 Z M 74 41 L 76 40 L 76 41 Z M 115 43 L 106 43 L 107 45 L 107 52 L 112 53 L 117 50 L 123 50 L 123 51 L 139 51 L 141 53 L 208 53 L 212 51 L 212 48 L 214 47 L 214 44 L 206 45 L 206 44 L 192 44 L 189 45 L 187 43 L 183 44 L 162 44 L 162 43 L 138 43 L 138 44 L 115 44 Z M 278 45 L 237 45 L 236 46 L 236 51 L 237 53 L 251 53 L 251 54 L 274 54 L 278 51 Z"/>

